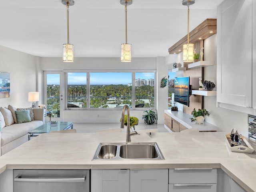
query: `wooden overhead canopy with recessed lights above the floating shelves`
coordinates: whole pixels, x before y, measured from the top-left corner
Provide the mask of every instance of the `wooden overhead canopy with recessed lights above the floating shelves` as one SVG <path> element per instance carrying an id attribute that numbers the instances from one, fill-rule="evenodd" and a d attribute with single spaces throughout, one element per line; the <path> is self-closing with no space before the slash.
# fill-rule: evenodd
<path id="1" fill-rule="evenodd" d="M 196 28 L 189 32 L 189 42 L 195 43 L 200 40 L 204 40 L 217 33 L 217 19 L 206 19 Z M 176 42 L 171 46 L 168 51 L 169 54 L 178 54 L 182 51 L 183 44 L 186 44 L 188 41 L 188 35 L 184 36 L 181 40 Z"/>

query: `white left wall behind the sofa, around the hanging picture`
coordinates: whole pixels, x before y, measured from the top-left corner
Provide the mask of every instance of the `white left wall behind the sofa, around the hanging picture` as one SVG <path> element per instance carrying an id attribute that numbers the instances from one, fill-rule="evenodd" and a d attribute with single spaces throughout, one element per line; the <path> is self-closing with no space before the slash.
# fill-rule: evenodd
<path id="1" fill-rule="evenodd" d="M 32 103 L 28 102 L 28 92 L 37 90 L 37 57 L 4 46 L 0 46 L 0 53 L 0 72 L 10 73 L 10 97 L 0 98 L 0 106 L 32 106 Z"/>

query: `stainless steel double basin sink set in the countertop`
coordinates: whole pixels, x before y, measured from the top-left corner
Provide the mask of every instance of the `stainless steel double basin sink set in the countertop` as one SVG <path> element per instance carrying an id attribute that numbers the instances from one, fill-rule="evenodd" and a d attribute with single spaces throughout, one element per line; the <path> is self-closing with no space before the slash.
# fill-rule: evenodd
<path id="1" fill-rule="evenodd" d="M 161 160 L 164 159 L 156 142 L 100 143 L 92 160 Z"/>

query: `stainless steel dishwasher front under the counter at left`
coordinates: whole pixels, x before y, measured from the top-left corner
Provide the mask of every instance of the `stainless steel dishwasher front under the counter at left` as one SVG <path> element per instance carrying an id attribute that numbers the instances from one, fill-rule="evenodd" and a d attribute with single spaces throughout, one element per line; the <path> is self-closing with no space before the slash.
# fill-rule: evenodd
<path id="1" fill-rule="evenodd" d="M 14 170 L 14 192 L 90 192 L 89 170 Z"/>

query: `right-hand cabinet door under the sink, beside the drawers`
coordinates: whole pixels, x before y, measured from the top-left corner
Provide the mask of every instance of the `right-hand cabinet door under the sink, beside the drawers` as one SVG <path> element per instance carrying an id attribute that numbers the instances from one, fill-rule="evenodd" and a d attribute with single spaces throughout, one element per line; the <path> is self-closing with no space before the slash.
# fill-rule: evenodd
<path id="1" fill-rule="evenodd" d="M 168 192 L 168 169 L 130 170 L 130 192 Z"/>

